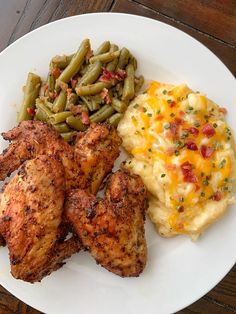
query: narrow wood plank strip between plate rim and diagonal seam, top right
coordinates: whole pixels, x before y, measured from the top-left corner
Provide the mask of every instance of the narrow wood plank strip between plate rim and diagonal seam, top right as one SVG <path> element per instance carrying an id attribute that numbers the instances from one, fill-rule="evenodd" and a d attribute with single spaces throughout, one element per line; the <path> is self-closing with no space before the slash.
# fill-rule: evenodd
<path id="1" fill-rule="evenodd" d="M 150 0 L 151 1 L 151 0 Z M 156 1 L 156 0 L 155 0 Z M 153 2 L 155 2 L 153 1 Z M 163 1 L 165 3 L 166 1 Z M 172 1 L 173 3 L 175 1 Z M 187 1 L 186 1 L 187 2 Z M 207 46 L 210 50 L 212 50 L 229 68 L 229 70 L 236 76 L 236 49 L 223 44 L 222 42 L 215 40 L 213 37 L 198 32 L 197 30 L 183 24 L 181 21 L 175 21 L 172 18 L 164 16 L 157 11 L 154 11 L 150 8 L 147 8 L 141 4 L 138 4 L 134 1 L 130 0 L 119 0 L 116 1 L 112 7 L 113 12 L 126 12 L 137 15 L 147 16 L 158 21 L 170 24 L 176 28 L 181 29 L 182 31 L 188 33 L 192 37 L 195 37 L 197 40 L 202 42 L 205 46 Z M 224 28 L 224 25 L 222 25 Z"/>

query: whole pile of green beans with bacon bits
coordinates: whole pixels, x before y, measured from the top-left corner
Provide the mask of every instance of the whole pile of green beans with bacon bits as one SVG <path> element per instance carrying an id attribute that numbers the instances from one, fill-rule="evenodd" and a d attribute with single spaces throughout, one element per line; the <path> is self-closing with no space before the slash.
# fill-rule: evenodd
<path id="1" fill-rule="evenodd" d="M 105 41 L 93 52 L 89 39 L 72 55 L 55 56 L 46 81 L 29 73 L 18 121 L 51 123 L 66 141 L 91 123 L 117 126 L 142 84 L 127 48 Z"/>

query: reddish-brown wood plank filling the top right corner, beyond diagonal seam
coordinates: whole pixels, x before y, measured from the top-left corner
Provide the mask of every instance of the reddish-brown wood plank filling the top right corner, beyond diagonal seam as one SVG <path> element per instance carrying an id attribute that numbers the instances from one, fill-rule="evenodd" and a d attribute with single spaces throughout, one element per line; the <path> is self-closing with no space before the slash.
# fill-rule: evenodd
<path id="1" fill-rule="evenodd" d="M 236 45 L 235 0 L 136 0 L 231 45 Z"/>

